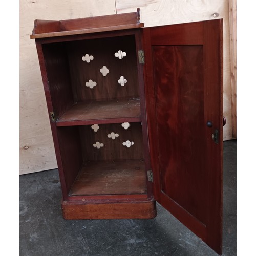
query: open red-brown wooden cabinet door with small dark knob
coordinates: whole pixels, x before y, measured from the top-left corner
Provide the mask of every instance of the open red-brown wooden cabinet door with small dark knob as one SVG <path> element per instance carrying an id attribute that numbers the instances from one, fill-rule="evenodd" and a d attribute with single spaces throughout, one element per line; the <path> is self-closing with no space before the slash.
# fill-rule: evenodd
<path id="1" fill-rule="evenodd" d="M 222 19 L 143 28 L 154 197 L 222 253 Z"/>

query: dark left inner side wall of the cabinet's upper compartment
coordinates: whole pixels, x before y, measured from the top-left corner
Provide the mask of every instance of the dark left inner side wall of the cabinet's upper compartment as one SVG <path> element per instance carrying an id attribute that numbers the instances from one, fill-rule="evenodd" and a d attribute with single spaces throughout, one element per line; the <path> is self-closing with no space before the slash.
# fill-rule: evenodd
<path id="1" fill-rule="evenodd" d="M 55 118 L 74 102 L 69 74 L 68 57 L 63 44 L 43 44 L 48 86 Z"/>

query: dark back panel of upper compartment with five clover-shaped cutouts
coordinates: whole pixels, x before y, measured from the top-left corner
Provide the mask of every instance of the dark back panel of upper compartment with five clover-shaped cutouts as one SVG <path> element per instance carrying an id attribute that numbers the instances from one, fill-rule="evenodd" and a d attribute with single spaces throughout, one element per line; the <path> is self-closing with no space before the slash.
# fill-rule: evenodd
<path id="1" fill-rule="evenodd" d="M 134 35 L 78 40 L 66 44 L 75 102 L 139 97 Z M 122 59 L 115 56 L 119 50 L 126 53 Z M 93 56 L 93 59 L 88 59 L 88 62 L 83 60 L 86 54 Z M 105 76 L 100 72 L 103 66 L 109 70 Z M 127 80 L 124 86 L 118 83 L 121 76 Z M 97 85 L 87 87 L 89 80 Z"/>

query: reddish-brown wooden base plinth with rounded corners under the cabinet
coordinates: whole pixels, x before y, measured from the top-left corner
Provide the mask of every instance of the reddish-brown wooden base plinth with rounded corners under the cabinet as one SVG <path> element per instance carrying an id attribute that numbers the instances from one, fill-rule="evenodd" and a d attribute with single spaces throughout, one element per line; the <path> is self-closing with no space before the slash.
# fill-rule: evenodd
<path id="1" fill-rule="evenodd" d="M 156 202 L 83 203 L 62 201 L 62 214 L 66 220 L 82 219 L 152 219 L 156 217 Z"/>

